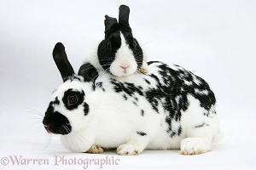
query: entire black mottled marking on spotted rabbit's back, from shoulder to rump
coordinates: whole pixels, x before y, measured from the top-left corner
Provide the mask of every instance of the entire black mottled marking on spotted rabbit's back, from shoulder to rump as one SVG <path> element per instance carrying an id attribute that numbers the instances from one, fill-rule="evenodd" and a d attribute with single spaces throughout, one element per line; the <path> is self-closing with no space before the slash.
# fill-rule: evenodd
<path id="1" fill-rule="evenodd" d="M 173 128 L 172 122 L 180 123 L 182 112 L 189 108 L 189 95 L 199 100 L 201 107 L 205 109 L 204 114 L 206 116 L 211 116 L 211 113 L 216 114 L 216 112 L 211 111 L 212 106 L 216 103 L 215 96 L 207 82 L 201 77 L 197 77 L 177 65 L 173 69 L 158 61 L 148 62 L 148 65 L 158 67 L 157 74 L 145 77 L 145 82 L 151 82 L 155 84 L 154 86 L 148 85 L 148 88 L 143 89 L 133 83 L 118 82 L 114 79 L 111 80 L 111 83 L 114 85 L 113 89 L 116 93 L 124 93 L 124 98 L 132 97 L 135 99 L 137 97 L 135 94 L 145 96 L 152 109 L 157 113 L 163 107 L 166 114 L 165 121 L 168 125 L 166 132 L 169 133 L 170 137 L 179 136 L 183 132 L 180 125 Z M 144 115 L 143 110 L 141 115 Z"/>

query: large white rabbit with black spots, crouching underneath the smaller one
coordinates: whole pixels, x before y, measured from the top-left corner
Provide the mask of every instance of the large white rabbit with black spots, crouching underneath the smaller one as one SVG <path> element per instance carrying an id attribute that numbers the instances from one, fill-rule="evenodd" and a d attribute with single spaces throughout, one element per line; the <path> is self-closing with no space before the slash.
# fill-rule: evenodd
<path id="1" fill-rule="evenodd" d="M 180 149 L 183 155 L 211 150 L 218 133 L 216 99 L 201 77 L 159 61 L 148 62 L 147 75 L 114 78 L 91 65 L 88 70 L 88 64 L 77 75 L 61 42 L 53 57 L 63 84 L 51 95 L 43 123 L 48 133 L 61 135 L 68 150 L 117 148 L 119 155 L 145 149 Z"/>

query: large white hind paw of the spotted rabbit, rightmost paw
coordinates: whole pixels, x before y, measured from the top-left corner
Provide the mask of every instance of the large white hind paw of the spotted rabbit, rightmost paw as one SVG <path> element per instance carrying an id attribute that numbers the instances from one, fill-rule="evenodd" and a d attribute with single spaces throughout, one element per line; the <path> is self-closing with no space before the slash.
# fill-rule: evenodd
<path id="1" fill-rule="evenodd" d="M 198 155 L 211 150 L 211 144 L 203 138 L 186 138 L 181 141 L 180 150 L 183 155 Z"/>

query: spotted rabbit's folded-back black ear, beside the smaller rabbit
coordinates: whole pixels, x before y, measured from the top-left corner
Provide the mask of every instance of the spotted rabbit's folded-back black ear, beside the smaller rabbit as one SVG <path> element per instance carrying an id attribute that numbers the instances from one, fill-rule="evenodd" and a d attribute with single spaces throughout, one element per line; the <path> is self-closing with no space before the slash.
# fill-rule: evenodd
<path id="1" fill-rule="evenodd" d="M 95 82 L 99 74 L 93 65 L 85 63 L 79 68 L 79 76 L 84 77 L 84 82 Z"/>

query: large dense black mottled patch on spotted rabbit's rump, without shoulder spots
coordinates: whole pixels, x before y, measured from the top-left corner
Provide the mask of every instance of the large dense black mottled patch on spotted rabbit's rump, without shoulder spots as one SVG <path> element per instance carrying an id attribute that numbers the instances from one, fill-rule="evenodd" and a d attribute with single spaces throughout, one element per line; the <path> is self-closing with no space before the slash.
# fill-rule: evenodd
<path id="1" fill-rule="evenodd" d="M 154 111 L 158 111 L 158 105 L 163 106 L 168 114 L 166 116 L 166 123 L 168 124 L 167 133 L 171 137 L 182 133 L 182 127 L 178 127 L 178 129 L 172 128 L 172 121 L 179 122 L 181 111 L 188 109 L 188 95 L 200 101 L 201 107 L 206 110 L 206 116 L 210 114 L 216 99 L 206 81 L 177 65 L 178 70 L 173 70 L 168 65 L 158 61 L 148 62 L 148 65 L 152 64 L 158 65 L 160 76 L 149 75 L 149 77 L 154 79 L 156 88 L 149 88 L 146 92 L 146 98 Z M 207 93 L 196 93 L 196 91 L 201 92 L 203 90 L 207 91 Z"/>

